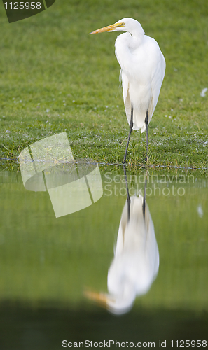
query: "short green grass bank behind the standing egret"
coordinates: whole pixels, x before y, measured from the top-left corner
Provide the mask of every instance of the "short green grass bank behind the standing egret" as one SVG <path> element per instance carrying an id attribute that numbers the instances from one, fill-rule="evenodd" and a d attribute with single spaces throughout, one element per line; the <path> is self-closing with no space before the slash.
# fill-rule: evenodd
<path id="1" fill-rule="evenodd" d="M 208 87 L 207 0 L 62 0 L 12 24 L 1 3 L 0 158 L 17 159 L 27 145 L 66 130 L 75 158 L 123 161 L 117 34 L 88 33 L 124 17 L 141 22 L 167 63 L 149 125 L 150 165 L 207 167 L 208 92 L 200 96 Z M 145 164 L 141 132 L 132 132 L 127 161 Z"/>

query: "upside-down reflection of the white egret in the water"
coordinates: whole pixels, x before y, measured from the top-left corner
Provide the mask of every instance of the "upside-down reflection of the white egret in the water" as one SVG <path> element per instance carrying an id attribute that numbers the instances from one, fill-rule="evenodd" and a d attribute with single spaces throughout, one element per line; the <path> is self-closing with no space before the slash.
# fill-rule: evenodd
<path id="1" fill-rule="evenodd" d="M 85 292 L 90 300 L 99 302 L 113 314 L 129 311 L 135 298 L 148 292 L 158 274 L 158 244 L 145 197 L 146 185 L 144 196 L 130 197 L 127 189 L 114 258 L 108 272 L 109 293 Z"/>

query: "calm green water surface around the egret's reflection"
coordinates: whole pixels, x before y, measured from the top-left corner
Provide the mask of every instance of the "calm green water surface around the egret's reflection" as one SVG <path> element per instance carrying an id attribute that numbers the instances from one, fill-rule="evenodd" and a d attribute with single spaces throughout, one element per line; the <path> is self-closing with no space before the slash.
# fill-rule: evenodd
<path id="1" fill-rule="evenodd" d="M 144 342 L 141 349 L 148 342 L 160 349 L 166 340 L 167 349 L 176 349 L 176 340 L 207 339 L 207 179 L 148 174 L 146 211 L 158 245 L 158 274 L 128 312 L 115 315 L 85 296 L 85 290 L 108 293 L 126 202 L 123 168 L 106 167 L 101 176 L 99 200 L 56 218 L 48 191 L 26 190 L 20 172 L 0 173 L 0 349 L 64 349 L 64 339 Z M 127 169 L 127 179 L 130 195 L 143 195 L 144 172 Z"/>

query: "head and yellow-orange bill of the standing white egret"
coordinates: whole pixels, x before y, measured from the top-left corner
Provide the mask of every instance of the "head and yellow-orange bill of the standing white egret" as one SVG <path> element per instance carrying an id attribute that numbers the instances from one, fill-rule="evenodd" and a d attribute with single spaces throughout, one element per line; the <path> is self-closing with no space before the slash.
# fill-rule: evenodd
<path id="1" fill-rule="evenodd" d="M 140 23 L 137 20 L 134 20 L 133 18 L 122 18 L 118 22 L 114 23 L 113 25 L 109 25 L 107 27 L 103 27 L 100 29 L 97 29 L 95 31 L 92 31 L 90 34 L 98 34 L 103 33 L 104 31 L 128 31 L 132 35 L 137 34 L 143 34 L 144 30 L 141 27 Z"/>

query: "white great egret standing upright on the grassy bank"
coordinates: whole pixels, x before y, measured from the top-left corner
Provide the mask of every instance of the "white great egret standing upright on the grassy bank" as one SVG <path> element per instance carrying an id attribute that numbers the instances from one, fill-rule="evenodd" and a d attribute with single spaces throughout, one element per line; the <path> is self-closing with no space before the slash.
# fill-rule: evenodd
<path id="1" fill-rule="evenodd" d="M 141 132 L 146 130 L 148 159 L 148 123 L 153 116 L 165 76 L 165 58 L 157 41 L 144 35 L 140 23 L 133 18 L 123 18 L 90 34 L 103 31 L 127 31 L 118 36 L 115 43 L 115 53 L 121 68 L 125 112 L 130 125 L 124 162 L 132 129 L 141 129 Z"/>

